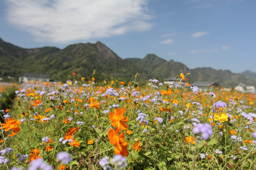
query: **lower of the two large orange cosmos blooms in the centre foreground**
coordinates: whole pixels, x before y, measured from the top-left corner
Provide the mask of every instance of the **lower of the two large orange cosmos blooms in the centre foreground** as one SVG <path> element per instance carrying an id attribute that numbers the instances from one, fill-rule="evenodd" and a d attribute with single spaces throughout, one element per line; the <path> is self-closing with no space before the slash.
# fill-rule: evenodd
<path id="1" fill-rule="evenodd" d="M 123 156 L 128 156 L 129 152 L 126 149 L 128 142 L 124 140 L 124 133 L 118 136 L 118 129 L 108 130 L 108 139 L 112 145 L 115 145 L 115 154 L 122 154 Z"/>

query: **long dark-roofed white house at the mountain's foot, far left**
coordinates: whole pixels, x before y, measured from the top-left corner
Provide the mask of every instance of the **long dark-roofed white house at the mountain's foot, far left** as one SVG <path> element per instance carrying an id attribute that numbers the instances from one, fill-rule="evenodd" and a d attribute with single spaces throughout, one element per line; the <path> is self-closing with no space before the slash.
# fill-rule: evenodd
<path id="1" fill-rule="evenodd" d="M 29 80 L 50 82 L 50 75 L 25 72 L 24 75 L 19 76 L 19 82 L 28 82 Z"/>

